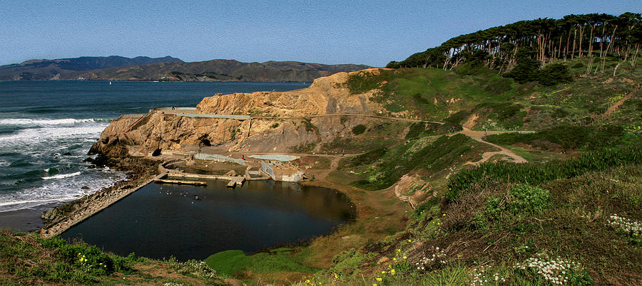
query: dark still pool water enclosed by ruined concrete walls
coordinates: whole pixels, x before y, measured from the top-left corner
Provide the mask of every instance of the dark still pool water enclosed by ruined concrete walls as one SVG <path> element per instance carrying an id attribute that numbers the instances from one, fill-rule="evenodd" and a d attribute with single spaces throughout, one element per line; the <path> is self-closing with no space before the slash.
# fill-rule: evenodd
<path id="1" fill-rule="evenodd" d="M 354 207 L 332 189 L 275 181 L 206 187 L 149 184 L 63 233 L 120 255 L 205 259 L 330 233 Z M 198 200 L 195 199 L 198 196 Z"/>

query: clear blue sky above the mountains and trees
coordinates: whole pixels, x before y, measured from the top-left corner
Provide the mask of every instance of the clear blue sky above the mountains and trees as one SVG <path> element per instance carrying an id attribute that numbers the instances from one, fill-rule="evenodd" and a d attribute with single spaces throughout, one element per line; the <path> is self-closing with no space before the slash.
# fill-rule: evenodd
<path id="1" fill-rule="evenodd" d="M 82 55 L 384 66 L 454 36 L 618 1 L 1 1 L 0 65 Z"/>

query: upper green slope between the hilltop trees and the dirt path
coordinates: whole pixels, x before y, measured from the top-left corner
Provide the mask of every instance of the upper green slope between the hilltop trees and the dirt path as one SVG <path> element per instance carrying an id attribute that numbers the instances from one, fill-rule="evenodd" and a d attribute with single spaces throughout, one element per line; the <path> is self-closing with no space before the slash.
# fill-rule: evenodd
<path id="1" fill-rule="evenodd" d="M 620 69 L 608 60 L 605 72 L 579 77 L 588 59 L 564 63 L 576 76 L 559 85 L 515 83 L 496 71 L 480 68 L 475 75 L 437 68 L 382 70 L 378 75 L 352 75 L 345 84 L 352 93 L 377 90 L 371 100 L 380 102 L 388 115 L 440 120 L 462 125 L 475 115 L 472 129 L 539 130 L 559 125 L 610 123 L 628 129 L 641 128 L 642 69 Z M 608 108 L 624 97 L 629 100 L 602 120 Z"/>

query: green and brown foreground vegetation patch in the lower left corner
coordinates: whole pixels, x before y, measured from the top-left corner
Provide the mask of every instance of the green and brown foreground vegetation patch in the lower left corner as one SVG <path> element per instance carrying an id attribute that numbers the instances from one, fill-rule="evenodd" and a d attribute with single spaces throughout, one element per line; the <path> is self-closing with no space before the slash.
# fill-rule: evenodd
<path id="1" fill-rule="evenodd" d="M 204 263 L 178 263 L 104 253 L 80 241 L 0 231 L 0 284 L 224 285 Z"/>

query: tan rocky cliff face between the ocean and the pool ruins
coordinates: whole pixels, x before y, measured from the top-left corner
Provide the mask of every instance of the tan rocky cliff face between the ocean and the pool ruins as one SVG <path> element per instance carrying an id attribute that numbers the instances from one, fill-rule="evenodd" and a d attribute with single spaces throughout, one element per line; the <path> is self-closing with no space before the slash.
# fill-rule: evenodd
<path id="1" fill-rule="evenodd" d="M 355 73 L 378 73 L 377 69 Z M 156 110 L 114 120 L 92 152 L 108 157 L 150 156 L 158 150 L 210 152 L 293 152 L 351 136 L 352 127 L 382 110 L 372 92 L 350 95 L 348 73 L 317 78 L 309 88 L 205 97 L 189 116 Z M 198 117 L 250 115 L 251 120 Z M 307 150 L 310 151 L 310 150 Z"/>

